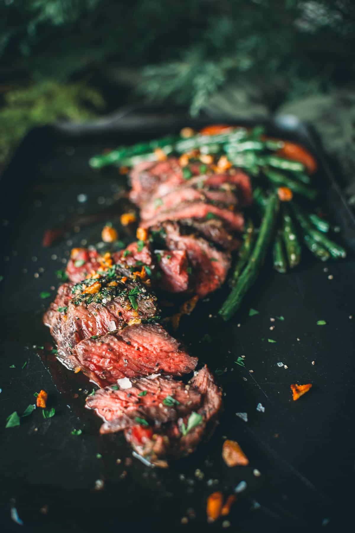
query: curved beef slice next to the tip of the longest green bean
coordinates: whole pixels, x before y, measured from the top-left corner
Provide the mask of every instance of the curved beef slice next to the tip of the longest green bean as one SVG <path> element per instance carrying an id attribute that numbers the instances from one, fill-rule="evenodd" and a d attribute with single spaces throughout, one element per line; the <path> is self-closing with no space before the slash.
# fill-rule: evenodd
<path id="1" fill-rule="evenodd" d="M 166 222 L 162 229 L 167 248 L 186 251 L 194 269 L 197 295 L 203 298 L 225 282 L 231 261 L 229 252 L 217 250 L 203 238 L 184 235 L 177 223 Z"/>

